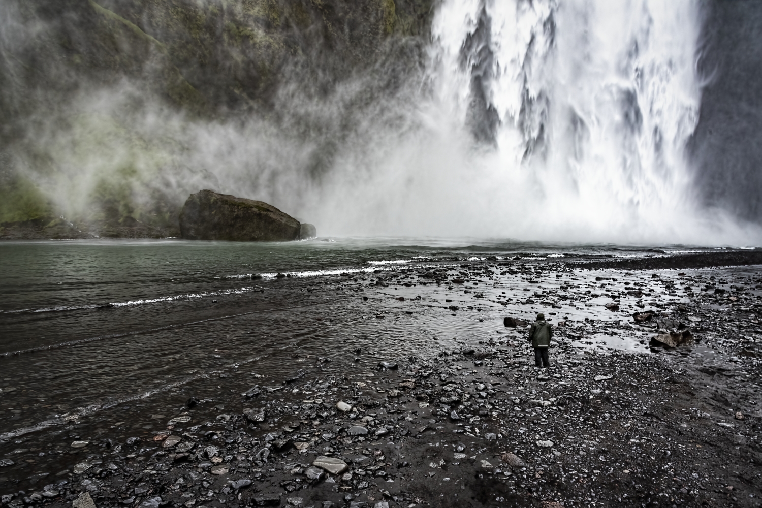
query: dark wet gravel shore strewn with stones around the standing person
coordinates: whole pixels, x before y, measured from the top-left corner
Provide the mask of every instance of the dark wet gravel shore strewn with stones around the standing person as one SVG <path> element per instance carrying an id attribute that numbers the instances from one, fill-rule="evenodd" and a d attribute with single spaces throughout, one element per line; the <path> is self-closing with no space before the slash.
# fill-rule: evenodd
<path id="1" fill-rule="evenodd" d="M 758 265 L 485 259 L 277 283 L 351 299 L 347 326 L 443 330 L 393 355 L 383 328 L 344 334 L 280 373 L 232 354 L 155 395 L 161 413 L 147 398 L 37 430 L 11 416 L 2 504 L 762 506 Z M 548 369 L 527 343 L 536 312 L 554 324 Z M 480 333 L 443 337 L 448 319 Z M 26 411 L 18 391 L 0 393 L 6 417 Z"/>

